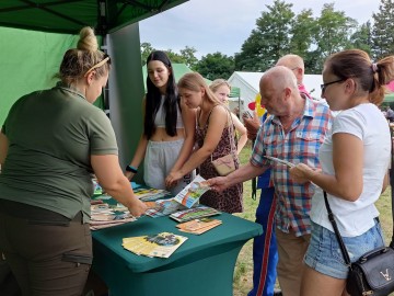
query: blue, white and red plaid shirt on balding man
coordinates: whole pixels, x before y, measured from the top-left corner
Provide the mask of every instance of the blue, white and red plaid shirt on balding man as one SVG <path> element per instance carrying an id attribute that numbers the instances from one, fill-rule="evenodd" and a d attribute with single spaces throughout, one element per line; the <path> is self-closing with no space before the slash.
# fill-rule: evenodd
<path id="1" fill-rule="evenodd" d="M 331 124 L 329 109 L 305 99 L 302 117 L 292 123 L 287 134 L 279 118 L 274 115 L 269 116 L 258 130 L 251 163 L 255 167 L 271 167 L 271 182 L 277 196 L 276 225 L 283 232 L 289 232 L 291 228 L 298 237 L 311 234 L 310 210 L 314 185 L 310 182 L 294 183 L 285 164 L 270 163 L 263 156 L 320 168 L 318 148 Z"/>

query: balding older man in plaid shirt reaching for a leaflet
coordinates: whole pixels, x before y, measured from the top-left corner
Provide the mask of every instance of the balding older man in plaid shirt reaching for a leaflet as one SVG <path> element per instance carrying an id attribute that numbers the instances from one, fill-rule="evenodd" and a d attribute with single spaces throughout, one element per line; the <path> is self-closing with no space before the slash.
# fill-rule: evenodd
<path id="1" fill-rule="evenodd" d="M 332 115 L 326 105 L 303 98 L 291 69 L 277 66 L 266 71 L 259 83 L 262 104 L 271 114 L 259 128 L 251 161 L 228 177 L 209 181 L 218 191 L 264 173 L 271 168 L 271 182 L 277 198 L 276 236 L 280 287 L 285 296 L 300 295 L 311 225 L 310 208 L 314 186 L 293 183 L 288 168 L 270 162 L 265 156 L 293 163 L 320 167 L 317 152 L 328 129 Z"/>

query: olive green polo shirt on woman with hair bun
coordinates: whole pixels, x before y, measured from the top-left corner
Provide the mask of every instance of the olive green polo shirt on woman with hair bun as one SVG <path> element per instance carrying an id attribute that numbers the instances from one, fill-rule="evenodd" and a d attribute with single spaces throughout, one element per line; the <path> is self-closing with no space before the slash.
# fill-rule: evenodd
<path id="1" fill-rule="evenodd" d="M 108 117 L 76 90 L 58 84 L 22 96 L 2 126 L 9 150 L 0 198 L 90 216 L 91 155 L 117 155 Z"/>

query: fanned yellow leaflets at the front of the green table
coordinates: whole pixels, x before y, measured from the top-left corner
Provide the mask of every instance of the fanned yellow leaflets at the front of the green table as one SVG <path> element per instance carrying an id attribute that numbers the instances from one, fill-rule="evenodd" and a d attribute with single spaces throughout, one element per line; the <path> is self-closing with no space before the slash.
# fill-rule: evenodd
<path id="1" fill-rule="evenodd" d="M 124 238 L 121 246 L 138 255 L 169 258 L 187 240 L 186 237 L 171 232 L 152 236 Z"/>

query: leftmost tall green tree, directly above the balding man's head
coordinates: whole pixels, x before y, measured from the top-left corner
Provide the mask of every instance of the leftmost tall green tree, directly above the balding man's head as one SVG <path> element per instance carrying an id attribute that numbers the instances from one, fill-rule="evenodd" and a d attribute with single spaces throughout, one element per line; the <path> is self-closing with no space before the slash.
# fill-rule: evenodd
<path id="1" fill-rule="evenodd" d="M 241 53 L 235 55 L 236 70 L 264 71 L 290 53 L 292 4 L 275 0 L 266 8 L 268 11 L 262 12 L 256 21 L 257 27 L 242 45 Z"/>

